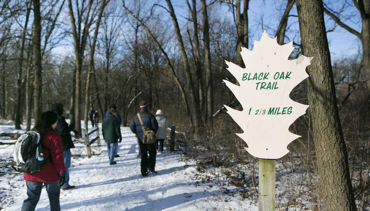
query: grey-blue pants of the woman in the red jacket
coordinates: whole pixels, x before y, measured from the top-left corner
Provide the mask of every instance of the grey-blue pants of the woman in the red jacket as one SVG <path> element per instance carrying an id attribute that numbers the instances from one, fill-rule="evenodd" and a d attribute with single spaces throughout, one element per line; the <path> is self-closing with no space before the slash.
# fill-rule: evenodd
<path id="1" fill-rule="evenodd" d="M 60 211 L 59 181 L 44 183 L 50 201 L 50 211 Z M 23 201 L 21 211 L 34 211 L 40 199 L 43 182 L 26 181 L 28 198 Z"/>

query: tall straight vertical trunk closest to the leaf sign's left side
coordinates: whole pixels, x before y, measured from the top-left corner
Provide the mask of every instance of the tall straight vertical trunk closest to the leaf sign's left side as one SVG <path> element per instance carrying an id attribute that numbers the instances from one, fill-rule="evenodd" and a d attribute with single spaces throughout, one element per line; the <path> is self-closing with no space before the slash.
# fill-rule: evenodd
<path id="1" fill-rule="evenodd" d="M 205 0 L 201 0 L 202 23 L 203 23 L 203 41 L 204 41 L 204 63 L 206 70 L 206 87 L 207 87 L 207 121 L 212 125 L 213 117 L 213 85 L 211 70 L 211 48 L 209 46 L 209 26 L 207 5 Z M 248 21 L 247 21 L 248 22 Z"/>

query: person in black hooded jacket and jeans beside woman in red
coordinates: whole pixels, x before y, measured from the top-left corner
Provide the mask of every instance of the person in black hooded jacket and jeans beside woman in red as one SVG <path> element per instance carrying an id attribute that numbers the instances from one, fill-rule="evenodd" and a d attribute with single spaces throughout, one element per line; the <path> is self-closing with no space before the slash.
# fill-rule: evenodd
<path id="1" fill-rule="evenodd" d="M 65 122 L 65 118 L 63 115 L 63 104 L 62 103 L 54 103 L 51 105 L 51 110 L 58 114 L 58 121 L 57 126 L 55 127 L 55 131 L 57 131 L 60 135 L 60 139 L 62 140 L 63 146 L 63 157 L 64 157 L 64 166 L 67 170 L 65 174 L 65 183 L 63 186 L 60 187 L 62 190 L 71 190 L 75 188 L 75 186 L 69 185 L 69 170 L 68 168 L 71 166 L 71 148 L 74 148 L 74 144 L 72 142 L 71 131 L 74 131 L 74 125 L 68 125 Z"/>

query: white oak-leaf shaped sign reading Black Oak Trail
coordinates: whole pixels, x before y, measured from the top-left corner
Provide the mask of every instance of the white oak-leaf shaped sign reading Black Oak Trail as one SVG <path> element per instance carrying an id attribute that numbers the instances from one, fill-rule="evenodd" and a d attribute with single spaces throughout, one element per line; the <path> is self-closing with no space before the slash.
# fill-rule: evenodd
<path id="1" fill-rule="evenodd" d="M 262 159 L 279 159 L 289 152 L 287 145 L 301 137 L 288 129 L 309 106 L 293 101 L 289 94 L 308 77 L 306 67 L 313 57 L 301 55 L 288 60 L 294 49 L 292 42 L 279 45 L 266 31 L 253 46 L 253 51 L 242 47 L 240 52 L 245 68 L 225 61 L 240 86 L 223 81 L 243 110 L 224 106 L 242 128 L 243 133 L 236 135 L 248 144 L 248 153 Z"/>

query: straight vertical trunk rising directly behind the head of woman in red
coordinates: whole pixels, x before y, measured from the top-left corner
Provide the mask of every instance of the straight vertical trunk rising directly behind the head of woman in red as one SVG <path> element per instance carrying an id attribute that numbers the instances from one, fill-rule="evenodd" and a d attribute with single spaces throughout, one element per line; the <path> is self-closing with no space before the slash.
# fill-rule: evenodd
<path id="1" fill-rule="evenodd" d="M 33 51 L 34 51 L 34 119 L 41 116 L 42 112 L 42 67 L 41 67 L 41 14 L 40 0 L 33 0 L 34 13 L 34 33 L 33 33 Z"/>

